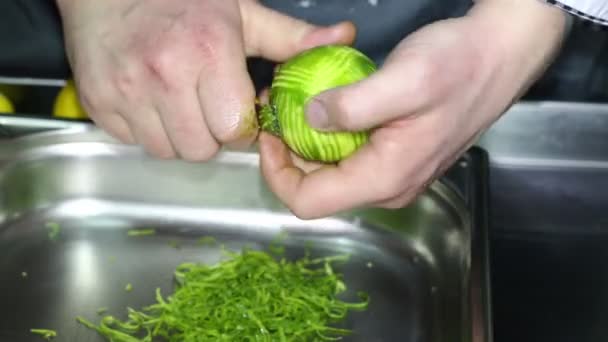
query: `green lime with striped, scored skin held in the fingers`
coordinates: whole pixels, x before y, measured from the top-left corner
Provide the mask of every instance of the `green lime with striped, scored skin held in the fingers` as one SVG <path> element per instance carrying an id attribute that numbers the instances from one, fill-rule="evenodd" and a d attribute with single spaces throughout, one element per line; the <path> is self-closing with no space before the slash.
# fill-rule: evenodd
<path id="1" fill-rule="evenodd" d="M 321 132 L 308 124 L 304 110 L 319 93 L 363 80 L 375 71 L 371 59 L 343 45 L 315 47 L 280 65 L 269 98 L 287 146 L 304 159 L 332 163 L 365 144 L 368 131 Z"/>

